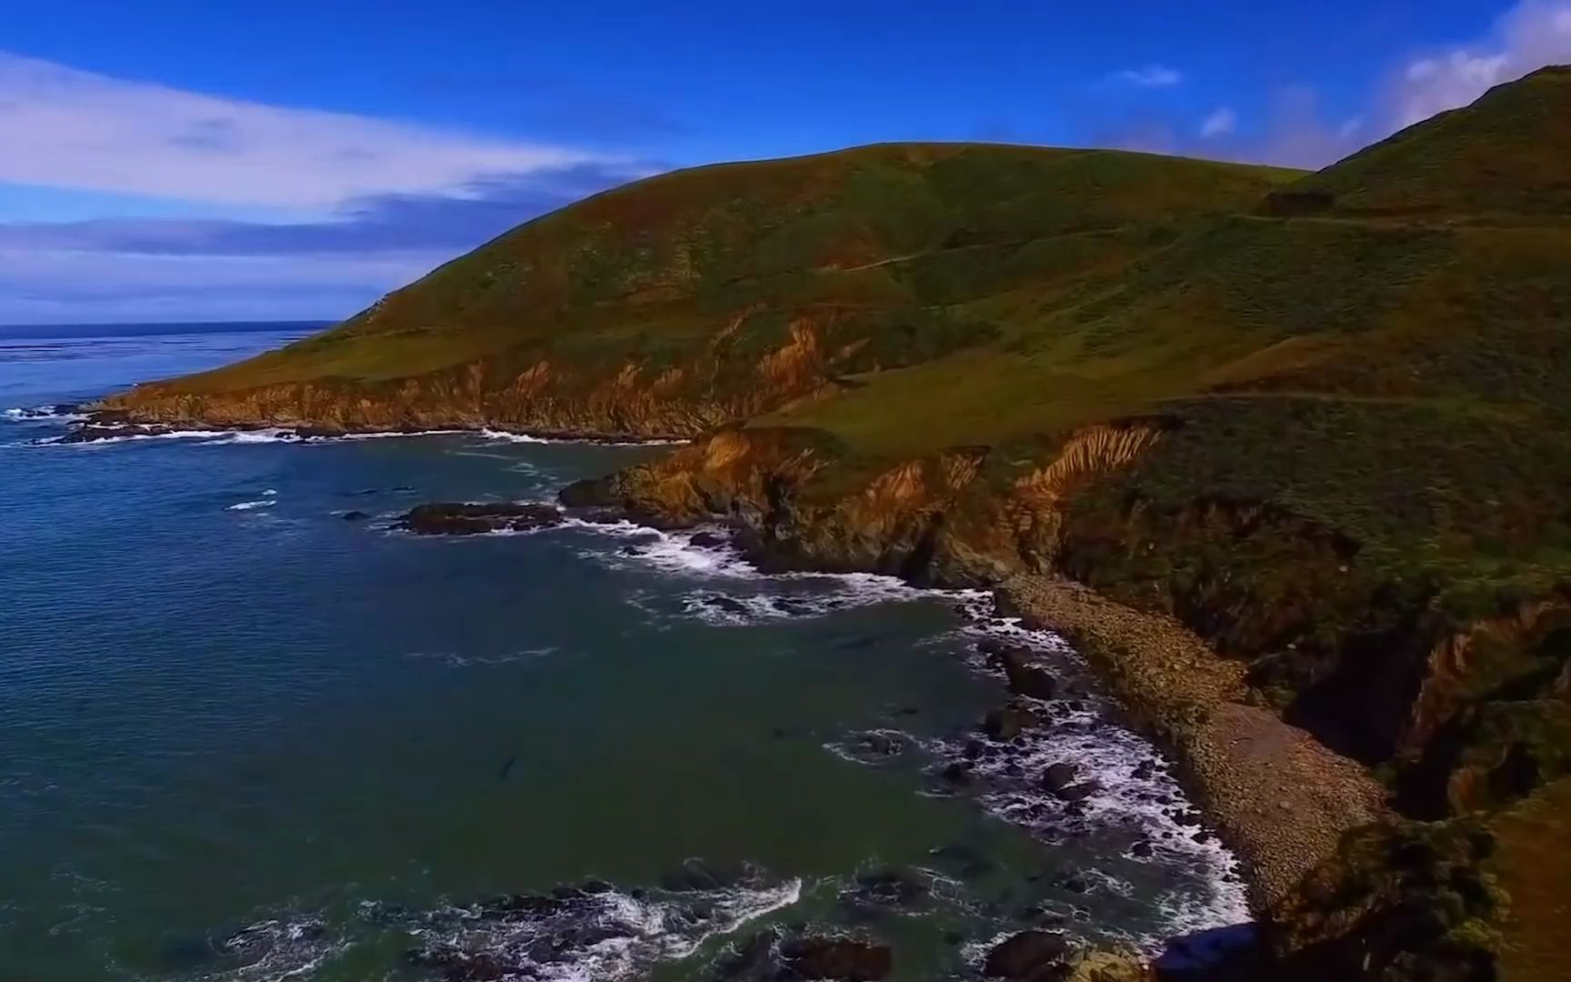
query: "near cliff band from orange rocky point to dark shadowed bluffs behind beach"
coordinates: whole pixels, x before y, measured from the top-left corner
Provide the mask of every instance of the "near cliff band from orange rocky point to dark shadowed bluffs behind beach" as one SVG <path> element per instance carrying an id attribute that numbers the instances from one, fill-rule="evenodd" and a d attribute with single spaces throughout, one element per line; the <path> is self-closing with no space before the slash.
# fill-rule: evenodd
<path id="1" fill-rule="evenodd" d="M 1166 426 L 1086 427 L 1010 482 L 985 476 L 987 448 L 965 448 L 839 493 L 822 490 L 833 451 L 811 434 L 734 429 L 567 500 L 658 522 L 731 522 L 773 569 L 938 584 L 1056 570 L 1097 583 L 1108 569 L 1150 562 L 1134 588 L 1115 578 L 1114 592 L 1246 661 L 1252 698 L 1386 765 L 1398 804 L 1420 819 L 1349 836 L 1291 891 L 1273 911 L 1262 977 L 1492 979 L 1492 925 L 1507 902 L 1488 874 L 1488 809 L 1571 773 L 1571 603 L 1555 594 L 1456 621 L 1434 608 L 1433 591 L 1370 589 L 1356 542 L 1258 503 L 1159 512 L 1130 501 L 1119 528 L 1075 514 L 1079 492 L 1136 462 Z M 1175 544 L 1202 564 L 1163 566 Z M 1280 580 L 1235 575 L 1229 558 L 1252 548 L 1274 558 Z M 1326 624 L 1334 630 L 1318 630 Z"/>

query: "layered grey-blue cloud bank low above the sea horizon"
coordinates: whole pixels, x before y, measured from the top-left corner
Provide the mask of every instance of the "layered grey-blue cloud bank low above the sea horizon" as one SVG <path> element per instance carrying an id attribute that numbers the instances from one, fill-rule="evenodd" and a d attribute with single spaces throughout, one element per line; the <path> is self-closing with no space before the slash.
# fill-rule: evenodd
<path id="1" fill-rule="evenodd" d="M 320 222 L 0 223 L 0 324 L 347 316 L 509 228 L 635 173 L 578 165 L 380 195 Z"/>

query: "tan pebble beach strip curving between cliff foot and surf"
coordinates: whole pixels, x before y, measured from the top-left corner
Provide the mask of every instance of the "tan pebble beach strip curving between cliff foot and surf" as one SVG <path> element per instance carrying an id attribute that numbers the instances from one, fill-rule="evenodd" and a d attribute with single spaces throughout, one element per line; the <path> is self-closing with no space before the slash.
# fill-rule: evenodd
<path id="1" fill-rule="evenodd" d="M 998 595 L 1001 610 L 1062 633 L 1178 760 L 1243 863 L 1257 916 L 1277 910 L 1346 831 L 1389 815 L 1384 787 L 1360 764 L 1247 704 L 1244 666 L 1177 621 L 1042 575 L 1015 577 Z"/>

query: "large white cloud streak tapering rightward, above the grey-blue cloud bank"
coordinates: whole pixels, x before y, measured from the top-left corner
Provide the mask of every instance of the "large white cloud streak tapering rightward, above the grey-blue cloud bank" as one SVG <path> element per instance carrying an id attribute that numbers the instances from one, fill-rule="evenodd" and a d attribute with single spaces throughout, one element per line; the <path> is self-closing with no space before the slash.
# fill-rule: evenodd
<path id="1" fill-rule="evenodd" d="M 0 181 L 322 212 L 368 195 L 462 196 L 490 174 L 595 160 L 605 157 L 0 52 Z"/>

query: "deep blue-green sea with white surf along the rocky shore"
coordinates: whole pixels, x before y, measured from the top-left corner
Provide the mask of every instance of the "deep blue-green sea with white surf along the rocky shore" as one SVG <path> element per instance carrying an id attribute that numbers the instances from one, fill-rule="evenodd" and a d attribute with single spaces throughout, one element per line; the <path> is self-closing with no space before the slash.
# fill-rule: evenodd
<path id="1" fill-rule="evenodd" d="M 0 410 L 308 330 L 0 328 Z M 391 529 L 661 448 L 49 445 L 68 421 L 22 416 L 0 418 L 0 979 L 712 979 L 767 927 L 961 979 L 1027 925 L 1150 946 L 1246 918 L 1095 691 L 943 776 L 1005 699 L 979 638 L 1084 676 L 982 595 L 760 577 L 630 526 Z M 1101 792 L 1043 793 L 1059 760 Z"/>

